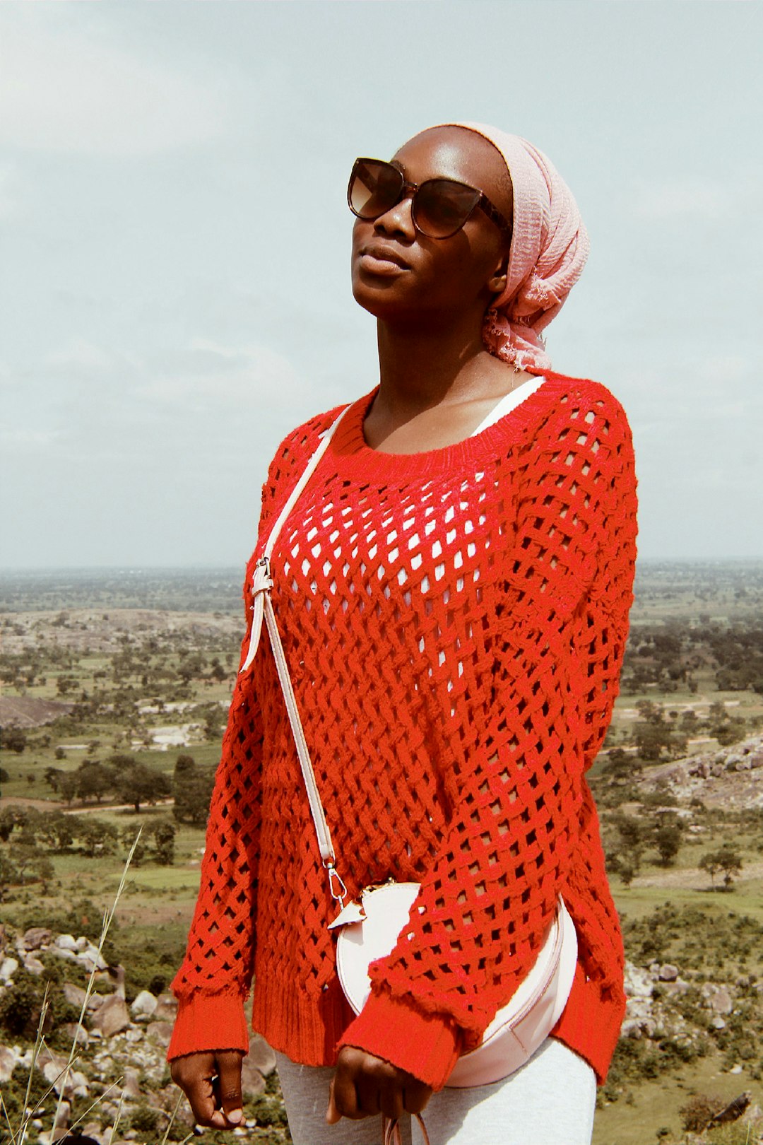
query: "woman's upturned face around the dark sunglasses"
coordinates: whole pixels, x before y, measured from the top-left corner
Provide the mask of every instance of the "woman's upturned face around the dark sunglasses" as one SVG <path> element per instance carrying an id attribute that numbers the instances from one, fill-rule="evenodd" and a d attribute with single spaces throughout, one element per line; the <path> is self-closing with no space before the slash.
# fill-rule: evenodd
<path id="1" fill-rule="evenodd" d="M 432 127 L 394 156 L 408 182 L 454 179 L 476 187 L 511 220 L 506 164 L 482 135 L 463 127 Z M 387 321 L 448 322 L 474 309 L 482 316 L 502 289 L 508 251 L 498 226 L 479 208 L 450 238 L 427 238 L 413 224 L 411 197 L 352 230 L 352 293 Z"/>

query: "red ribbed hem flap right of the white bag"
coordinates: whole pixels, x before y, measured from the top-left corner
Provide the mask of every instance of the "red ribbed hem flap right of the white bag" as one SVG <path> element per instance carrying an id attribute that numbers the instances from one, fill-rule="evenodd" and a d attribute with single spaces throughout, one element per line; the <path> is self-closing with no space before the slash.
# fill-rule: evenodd
<path id="1" fill-rule="evenodd" d="M 625 1014 L 625 994 L 603 1001 L 601 987 L 586 981 L 578 963 L 567 1004 L 551 1036 L 585 1058 L 596 1073 L 597 1083 L 603 1085 Z"/>

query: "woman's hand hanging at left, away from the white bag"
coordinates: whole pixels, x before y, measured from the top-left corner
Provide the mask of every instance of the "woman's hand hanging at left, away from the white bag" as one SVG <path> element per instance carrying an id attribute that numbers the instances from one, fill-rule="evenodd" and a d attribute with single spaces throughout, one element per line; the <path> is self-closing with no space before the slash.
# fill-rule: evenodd
<path id="1" fill-rule="evenodd" d="M 210 1129 L 240 1126 L 243 1060 L 241 1050 L 209 1050 L 186 1053 L 170 1063 L 172 1079 L 189 1099 L 197 1124 Z"/>

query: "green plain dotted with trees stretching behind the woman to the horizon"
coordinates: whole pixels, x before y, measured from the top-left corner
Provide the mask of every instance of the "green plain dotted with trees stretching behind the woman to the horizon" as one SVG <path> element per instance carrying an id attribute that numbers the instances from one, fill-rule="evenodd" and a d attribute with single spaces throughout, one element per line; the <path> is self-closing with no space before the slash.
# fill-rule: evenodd
<path id="1" fill-rule="evenodd" d="M 0 594 L 3 922 L 71 930 L 79 914 L 92 926 L 142 826 L 110 942 L 128 998 L 166 989 L 193 909 L 238 661 L 238 577 L 14 575 Z M 644 972 L 674 965 L 683 985 L 655 978 L 644 1032 L 621 1040 L 596 1145 L 686 1140 L 679 1111 L 696 1095 L 728 1103 L 746 1091 L 763 1104 L 762 605 L 761 564 L 639 568 L 622 690 L 591 785 L 627 957 Z M 184 804 L 173 802 L 180 788 Z M 56 813 L 71 824 L 69 845 L 40 842 Z M 737 867 L 700 867 L 718 851 Z M 732 995 L 722 1026 L 707 1001 L 718 984 Z M 702 1139 L 731 1145 L 746 1132 L 733 1123 Z"/>

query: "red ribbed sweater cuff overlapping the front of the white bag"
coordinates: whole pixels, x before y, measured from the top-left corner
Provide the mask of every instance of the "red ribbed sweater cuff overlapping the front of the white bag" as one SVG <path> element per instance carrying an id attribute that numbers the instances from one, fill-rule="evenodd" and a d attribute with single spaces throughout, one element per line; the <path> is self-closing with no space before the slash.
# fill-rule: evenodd
<path id="1" fill-rule="evenodd" d="M 365 1050 L 438 1090 L 459 1059 L 460 1043 L 460 1029 L 446 1014 L 422 1013 L 412 1002 L 384 993 L 371 995 L 337 1050 Z"/>

